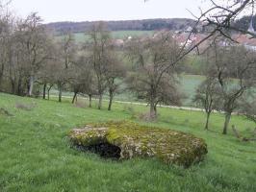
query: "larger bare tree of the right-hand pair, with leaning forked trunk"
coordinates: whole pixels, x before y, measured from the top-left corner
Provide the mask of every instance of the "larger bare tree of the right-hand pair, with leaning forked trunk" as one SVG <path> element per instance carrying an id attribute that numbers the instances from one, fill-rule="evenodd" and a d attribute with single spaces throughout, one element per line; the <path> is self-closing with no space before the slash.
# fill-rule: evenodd
<path id="1" fill-rule="evenodd" d="M 227 133 L 232 112 L 239 107 L 244 92 L 255 85 L 256 58 L 243 46 L 214 46 L 209 76 L 218 81 L 221 108 L 225 112 L 223 134 Z"/>

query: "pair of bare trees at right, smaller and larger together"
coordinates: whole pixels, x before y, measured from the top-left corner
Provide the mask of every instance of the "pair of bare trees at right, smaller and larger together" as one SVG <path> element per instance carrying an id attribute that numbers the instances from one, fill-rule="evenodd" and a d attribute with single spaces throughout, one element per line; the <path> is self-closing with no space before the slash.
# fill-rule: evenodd
<path id="1" fill-rule="evenodd" d="M 205 129 L 214 110 L 225 114 L 223 134 L 227 133 L 231 114 L 241 112 L 252 117 L 249 105 L 255 100 L 256 56 L 242 45 L 219 46 L 215 42 L 205 54 L 206 79 L 199 84 L 193 101 L 206 111 Z"/>

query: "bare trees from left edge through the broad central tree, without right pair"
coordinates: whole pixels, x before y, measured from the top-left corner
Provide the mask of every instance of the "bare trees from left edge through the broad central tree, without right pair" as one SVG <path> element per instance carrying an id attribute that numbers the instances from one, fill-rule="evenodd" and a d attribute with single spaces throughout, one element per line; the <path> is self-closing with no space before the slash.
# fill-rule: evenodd
<path id="1" fill-rule="evenodd" d="M 92 96 L 97 96 L 99 109 L 104 93 L 108 92 L 111 109 L 120 83 L 125 82 L 150 104 L 152 117 L 156 116 L 158 104 L 180 103 L 176 68 L 171 64 L 177 61 L 180 47 L 169 33 L 134 38 L 125 50 L 119 50 L 104 23 L 91 27 L 90 37 L 82 47 L 71 33 L 60 39 L 51 36 L 37 13 L 25 19 L 5 14 L 1 29 L 2 91 L 34 96 L 42 88 L 45 99 L 51 88 L 57 87 L 60 102 L 63 91 L 71 90 L 73 102 L 78 94 L 88 95 L 90 107 Z M 123 55 L 134 65 L 124 66 Z"/>

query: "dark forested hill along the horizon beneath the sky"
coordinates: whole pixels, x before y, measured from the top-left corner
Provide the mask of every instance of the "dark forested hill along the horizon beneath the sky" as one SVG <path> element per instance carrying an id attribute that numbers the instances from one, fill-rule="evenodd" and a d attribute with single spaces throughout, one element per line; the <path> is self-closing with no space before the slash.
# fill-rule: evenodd
<path id="1" fill-rule="evenodd" d="M 189 18 L 106 21 L 111 31 L 186 30 L 188 27 L 192 27 L 194 22 Z M 62 34 L 67 31 L 82 33 L 88 31 L 93 23 L 95 22 L 56 22 L 47 24 L 47 27 L 56 34 Z"/>

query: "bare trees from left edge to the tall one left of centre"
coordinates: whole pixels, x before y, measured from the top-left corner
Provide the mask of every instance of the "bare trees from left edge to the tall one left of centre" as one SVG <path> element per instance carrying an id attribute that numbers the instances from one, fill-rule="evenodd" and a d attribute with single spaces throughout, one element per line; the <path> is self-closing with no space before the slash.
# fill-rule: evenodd
<path id="1" fill-rule="evenodd" d="M 108 89 L 111 109 L 116 80 L 124 77 L 125 71 L 102 23 L 92 27 L 90 41 L 83 47 L 75 44 L 72 34 L 54 39 L 37 13 L 26 19 L 6 14 L 0 24 L 2 91 L 33 96 L 37 84 L 45 99 L 46 92 L 49 97 L 50 89 L 57 86 L 60 102 L 63 91 L 72 90 L 74 99 L 78 93 L 88 94 L 90 101 L 92 95 L 98 95 L 98 108 L 102 108 L 102 96 Z"/>

